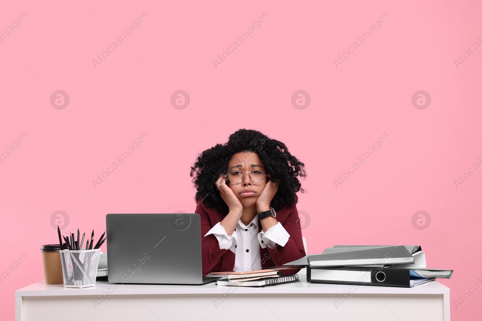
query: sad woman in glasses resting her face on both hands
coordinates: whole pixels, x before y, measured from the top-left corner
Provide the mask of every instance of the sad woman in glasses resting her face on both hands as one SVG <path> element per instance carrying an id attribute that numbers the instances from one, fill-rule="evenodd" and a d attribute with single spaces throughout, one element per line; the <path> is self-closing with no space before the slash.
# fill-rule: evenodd
<path id="1" fill-rule="evenodd" d="M 190 176 L 196 174 L 203 276 L 278 267 L 306 255 L 296 209 L 304 166 L 284 143 L 251 129 L 198 156 Z"/>

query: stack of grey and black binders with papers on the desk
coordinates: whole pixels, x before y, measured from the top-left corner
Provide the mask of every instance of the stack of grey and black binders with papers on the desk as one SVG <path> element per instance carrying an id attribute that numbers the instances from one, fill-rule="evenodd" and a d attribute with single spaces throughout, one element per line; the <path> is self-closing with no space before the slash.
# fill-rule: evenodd
<path id="1" fill-rule="evenodd" d="M 335 245 L 286 265 L 305 265 L 307 282 L 414 287 L 454 270 L 427 269 L 420 245 Z"/>

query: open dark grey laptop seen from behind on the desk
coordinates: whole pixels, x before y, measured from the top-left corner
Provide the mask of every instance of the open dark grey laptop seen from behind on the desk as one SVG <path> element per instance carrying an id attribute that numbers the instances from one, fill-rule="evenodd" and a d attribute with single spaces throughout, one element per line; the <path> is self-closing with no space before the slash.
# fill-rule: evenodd
<path id="1" fill-rule="evenodd" d="M 108 281 L 205 284 L 199 214 L 107 214 Z"/>

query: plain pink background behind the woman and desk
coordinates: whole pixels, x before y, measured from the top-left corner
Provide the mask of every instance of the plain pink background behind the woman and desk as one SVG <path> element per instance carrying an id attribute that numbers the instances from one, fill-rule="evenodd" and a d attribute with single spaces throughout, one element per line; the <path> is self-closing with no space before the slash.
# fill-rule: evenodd
<path id="1" fill-rule="evenodd" d="M 453 320 L 480 318 L 481 291 L 461 306 L 454 300 L 482 286 L 482 170 L 458 189 L 454 180 L 482 166 L 482 49 L 458 68 L 454 60 L 482 45 L 482 4 L 351 2 L 4 1 L 0 31 L 28 14 L 0 43 L 0 152 L 28 135 L 0 164 L 0 273 L 28 255 L 0 284 L 7 319 L 14 290 L 43 279 L 39 250 L 58 241 L 55 211 L 67 213 L 64 229 L 97 236 L 107 213 L 193 212 L 189 167 L 239 128 L 285 142 L 306 164 L 308 193 L 298 193 L 297 208 L 306 212 L 308 253 L 420 244 L 428 267 L 455 270 L 439 280 L 451 289 Z M 144 12 L 141 29 L 120 44 Z M 241 44 L 236 37 L 265 12 Z M 382 29 L 361 44 L 357 36 L 383 13 Z M 114 41 L 119 48 L 95 68 Z M 336 68 L 355 41 L 360 48 Z M 50 103 L 56 90 L 70 97 L 63 110 Z M 171 105 L 176 90 L 189 94 L 187 108 Z M 296 90 L 308 92 L 308 108 L 292 105 Z M 425 110 L 411 102 L 417 90 L 432 98 Z M 142 148 L 95 189 L 97 175 L 144 132 Z M 384 133 L 382 150 L 337 189 L 338 175 Z M 419 210 L 431 218 L 421 230 L 412 224 Z"/>

